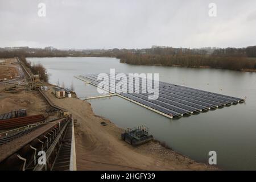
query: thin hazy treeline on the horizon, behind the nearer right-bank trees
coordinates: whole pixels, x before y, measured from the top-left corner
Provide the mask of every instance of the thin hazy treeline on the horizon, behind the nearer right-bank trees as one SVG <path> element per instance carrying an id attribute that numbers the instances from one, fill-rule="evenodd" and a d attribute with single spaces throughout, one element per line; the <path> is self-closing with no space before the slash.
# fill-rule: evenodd
<path id="1" fill-rule="evenodd" d="M 152 46 L 151 48 L 144 49 L 92 49 L 92 50 L 60 50 L 53 47 L 46 48 L 29 48 L 29 47 L 16 47 L 16 48 L 0 48 L 0 57 L 85 57 L 85 56 L 108 56 L 114 57 L 124 53 L 133 53 L 135 55 L 214 55 L 214 56 L 242 56 L 242 57 L 256 57 L 256 46 L 246 48 L 173 48 Z"/>

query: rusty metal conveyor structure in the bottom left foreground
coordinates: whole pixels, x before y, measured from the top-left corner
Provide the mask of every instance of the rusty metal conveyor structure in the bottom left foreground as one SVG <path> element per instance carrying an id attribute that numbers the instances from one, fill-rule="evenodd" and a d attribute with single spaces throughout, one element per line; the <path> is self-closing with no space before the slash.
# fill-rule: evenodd
<path id="1" fill-rule="evenodd" d="M 0 136 L 1 171 L 76 170 L 72 115 L 4 134 Z"/>

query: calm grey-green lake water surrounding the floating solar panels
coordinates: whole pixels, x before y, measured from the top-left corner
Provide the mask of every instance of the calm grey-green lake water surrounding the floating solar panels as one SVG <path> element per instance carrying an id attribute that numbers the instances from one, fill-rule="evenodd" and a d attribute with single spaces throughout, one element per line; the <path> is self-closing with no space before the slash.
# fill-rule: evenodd
<path id="1" fill-rule="evenodd" d="M 69 88 L 72 82 L 80 98 L 97 96 L 97 88 L 73 76 L 86 73 L 159 73 L 159 80 L 191 88 L 246 97 L 243 104 L 224 107 L 180 119 L 168 119 L 119 97 L 90 100 L 97 115 L 122 128 L 145 125 L 155 139 L 197 162 L 208 163 L 209 151 L 217 152 L 217 167 L 256 170 L 256 73 L 129 65 L 106 57 L 29 58 L 50 73 L 51 84 Z"/>

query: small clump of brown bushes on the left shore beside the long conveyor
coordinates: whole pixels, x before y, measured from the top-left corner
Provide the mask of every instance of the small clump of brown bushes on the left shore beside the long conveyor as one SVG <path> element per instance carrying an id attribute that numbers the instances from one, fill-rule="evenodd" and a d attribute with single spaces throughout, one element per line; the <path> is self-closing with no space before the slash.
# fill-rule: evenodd
<path id="1" fill-rule="evenodd" d="M 48 81 L 48 74 L 46 68 L 40 63 L 38 64 L 31 64 L 30 61 L 27 61 L 26 57 L 20 56 L 20 60 L 26 65 L 27 68 L 30 68 L 31 72 L 34 75 L 40 75 L 43 81 Z"/>

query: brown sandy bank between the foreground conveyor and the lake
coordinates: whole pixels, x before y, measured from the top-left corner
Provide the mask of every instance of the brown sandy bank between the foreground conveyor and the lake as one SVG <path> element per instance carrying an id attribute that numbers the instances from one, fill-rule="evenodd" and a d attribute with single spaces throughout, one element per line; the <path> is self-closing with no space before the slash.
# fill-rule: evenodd
<path id="1" fill-rule="evenodd" d="M 76 98 L 57 99 L 48 90 L 47 96 L 77 119 L 75 126 L 78 170 L 214 170 L 175 151 L 150 142 L 133 147 L 121 140 L 122 129 L 108 119 L 98 117 L 90 104 Z M 107 126 L 102 126 L 106 122 Z"/>

